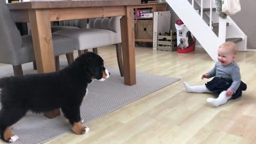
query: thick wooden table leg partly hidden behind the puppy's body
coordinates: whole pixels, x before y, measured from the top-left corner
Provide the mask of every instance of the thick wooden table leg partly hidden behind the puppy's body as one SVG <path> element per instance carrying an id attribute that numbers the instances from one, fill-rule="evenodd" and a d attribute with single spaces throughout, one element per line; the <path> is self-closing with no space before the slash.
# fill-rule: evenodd
<path id="1" fill-rule="evenodd" d="M 55 71 L 49 10 L 29 10 L 29 22 L 38 73 Z M 59 109 L 44 114 L 48 118 L 58 115 L 60 115 Z"/>

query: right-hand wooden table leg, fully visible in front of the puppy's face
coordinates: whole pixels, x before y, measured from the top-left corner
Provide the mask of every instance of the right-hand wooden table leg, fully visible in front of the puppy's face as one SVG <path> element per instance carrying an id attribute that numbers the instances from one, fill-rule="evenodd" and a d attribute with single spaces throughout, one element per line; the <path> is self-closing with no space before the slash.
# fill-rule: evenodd
<path id="1" fill-rule="evenodd" d="M 133 7 L 126 6 L 126 15 L 121 18 L 122 50 L 124 63 L 124 84 L 136 84 L 135 38 Z"/>

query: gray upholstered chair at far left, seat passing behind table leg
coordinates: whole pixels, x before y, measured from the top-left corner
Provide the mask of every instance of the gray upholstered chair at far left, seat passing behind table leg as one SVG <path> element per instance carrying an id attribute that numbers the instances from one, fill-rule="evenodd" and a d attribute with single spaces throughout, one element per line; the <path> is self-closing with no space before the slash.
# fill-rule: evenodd
<path id="1" fill-rule="evenodd" d="M 73 40 L 52 35 L 54 55 L 73 55 Z M 23 63 L 35 61 L 31 35 L 21 36 L 5 1 L 0 1 L 0 63 L 13 66 L 14 75 L 22 75 Z"/>

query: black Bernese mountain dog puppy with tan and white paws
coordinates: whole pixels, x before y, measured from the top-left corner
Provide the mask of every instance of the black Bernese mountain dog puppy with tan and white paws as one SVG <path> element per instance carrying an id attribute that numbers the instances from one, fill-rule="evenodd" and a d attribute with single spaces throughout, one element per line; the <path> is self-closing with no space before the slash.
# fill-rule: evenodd
<path id="1" fill-rule="evenodd" d="M 87 132 L 80 117 L 86 87 L 93 79 L 105 81 L 109 76 L 103 59 L 87 52 L 59 71 L 1 78 L 0 138 L 5 142 L 18 140 L 11 126 L 28 110 L 44 113 L 60 108 L 76 134 Z"/>

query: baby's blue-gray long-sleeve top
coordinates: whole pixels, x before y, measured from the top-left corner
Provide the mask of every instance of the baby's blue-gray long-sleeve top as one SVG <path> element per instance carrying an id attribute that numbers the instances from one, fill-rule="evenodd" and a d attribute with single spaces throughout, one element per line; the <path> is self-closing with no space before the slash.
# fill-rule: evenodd
<path id="1" fill-rule="evenodd" d="M 241 74 L 239 66 L 235 61 L 230 63 L 227 66 L 222 66 L 220 62 L 216 62 L 214 68 L 209 71 L 207 74 L 209 74 L 209 78 L 211 77 L 223 77 L 223 78 L 230 78 L 232 79 L 233 83 L 229 87 L 234 93 L 238 89 L 238 87 L 241 84 Z"/>

